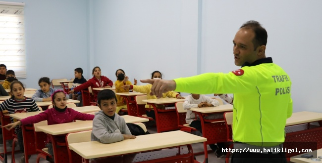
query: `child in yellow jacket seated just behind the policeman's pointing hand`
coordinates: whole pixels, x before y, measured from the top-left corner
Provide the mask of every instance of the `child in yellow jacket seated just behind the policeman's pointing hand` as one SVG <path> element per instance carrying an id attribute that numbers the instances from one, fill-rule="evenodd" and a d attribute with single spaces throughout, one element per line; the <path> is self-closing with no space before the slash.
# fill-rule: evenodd
<path id="1" fill-rule="evenodd" d="M 162 79 L 162 74 L 160 71 L 154 71 L 151 74 L 151 79 Z M 157 99 L 157 96 L 155 95 L 150 95 L 151 92 L 151 87 L 152 84 L 147 84 L 147 85 L 124 85 L 121 86 L 123 89 L 133 89 L 136 92 L 141 92 L 141 93 L 147 93 L 147 99 Z M 166 97 L 174 97 L 174 98 L 184 98 L 180 96 L 178 92 L 174 91 L 168 91 L 162 94 L 163 96 L 161 98 L 166 98 Z M 156 105 L 157 108 L 164 108 L 164 105 Z M 145 108 L 148 108 L 150 110 L 146 111 L 146 114 L 148 117 L 153 118 L 154 120 L 156 119 L 156 115 L 154 113 L 154 110 L 152 106 L 150 105 L 145 105 Z"/>

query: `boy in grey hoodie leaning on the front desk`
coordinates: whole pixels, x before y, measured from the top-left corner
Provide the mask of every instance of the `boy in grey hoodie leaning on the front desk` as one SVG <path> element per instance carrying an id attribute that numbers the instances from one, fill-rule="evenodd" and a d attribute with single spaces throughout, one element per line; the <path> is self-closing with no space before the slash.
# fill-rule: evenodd
<path id="1" fill-rule="evenodd" d="M 125 120 L 115 114 L 117 99 L 112 90 L 104 89 L 97 95 L 101 111 L 95 113 L 93 120 L 92 141 L 114 143 L 124 139 L 134 139 Z"/>

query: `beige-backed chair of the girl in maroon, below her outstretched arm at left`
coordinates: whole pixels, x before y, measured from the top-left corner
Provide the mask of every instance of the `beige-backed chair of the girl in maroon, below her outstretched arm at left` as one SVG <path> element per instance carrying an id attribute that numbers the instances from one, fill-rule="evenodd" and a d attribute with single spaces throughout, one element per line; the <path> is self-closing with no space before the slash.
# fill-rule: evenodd
<path id="1" fill-rule="evenodd" d="M 48 160 L 48 158 L 53 158 L 53 156 L 48 153 L 48 148 L 46 148 L 47 134 L 37 129 L 37 126 L 42 125 L 47 125 L 47 121 L 34 123 L 33 125 L 35 133 L 36 152 L 38 153 L 37 163 L 39 163 L 40 158 L 43 158 L 45 160 Z"/>

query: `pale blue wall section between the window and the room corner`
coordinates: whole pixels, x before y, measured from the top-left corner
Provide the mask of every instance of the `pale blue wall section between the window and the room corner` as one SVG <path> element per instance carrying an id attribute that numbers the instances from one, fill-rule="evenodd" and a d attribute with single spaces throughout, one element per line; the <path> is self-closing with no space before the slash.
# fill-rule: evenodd
<path id="1" fill-rule="evenodd" d="M 7 0 L 25 2 L 27 87 L 41 77 L 74 78 L 87 67 L 87 0 Z M 9 65 L 6 65 L 10 69 Z"/>

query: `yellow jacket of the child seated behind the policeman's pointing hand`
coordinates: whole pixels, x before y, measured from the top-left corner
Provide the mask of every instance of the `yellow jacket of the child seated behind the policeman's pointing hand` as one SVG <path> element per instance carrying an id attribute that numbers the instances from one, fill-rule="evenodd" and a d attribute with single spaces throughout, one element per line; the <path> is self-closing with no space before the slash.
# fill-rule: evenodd
<path id="1" fill-rule="evenodd" d="M 157 99 L 157 96 L 150 95 L 151 87 L 152 87 L 152 84 L 133 85 L 133 90 L 136 92 L 147 93 L 147 99 Z M 179 93 L 174 92 L 174 91 L 168 91 L 168 92 L 163 93 L 162 95 L 163 95 L 162 98 L 177 97 L 179 95 Z M 145 105 L 145 108 L 150 108 L 150 105 Z M 151 108 L 153 108 L 153 107 L 151 106 Z"/>

